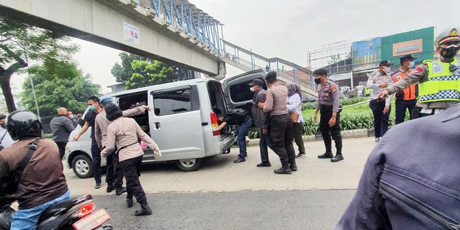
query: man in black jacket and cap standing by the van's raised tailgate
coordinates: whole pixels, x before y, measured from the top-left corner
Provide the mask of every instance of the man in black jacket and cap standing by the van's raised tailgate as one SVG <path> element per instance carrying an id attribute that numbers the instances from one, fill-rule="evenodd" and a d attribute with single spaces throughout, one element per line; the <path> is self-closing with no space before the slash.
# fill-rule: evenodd
<path id="1" fill-rule="evenodd" d="M 270 127 L 268 127 L 266 116 L 269 115 L 264 113 L 263 108 L 259 108 L 259 103 L 265 103 L 266 91 L 264 89 L 265 82 L 261 79 L 254 79 L 253 82 L 249 83 L 253 95 L 253 121 L 255 127 L 260 130 L 260 159 L 262 162 L 257 164 L 257 167 L 270 167 L 271 163 L 268 160 L 268 147 L 271 148 L 270 140 Z"/>

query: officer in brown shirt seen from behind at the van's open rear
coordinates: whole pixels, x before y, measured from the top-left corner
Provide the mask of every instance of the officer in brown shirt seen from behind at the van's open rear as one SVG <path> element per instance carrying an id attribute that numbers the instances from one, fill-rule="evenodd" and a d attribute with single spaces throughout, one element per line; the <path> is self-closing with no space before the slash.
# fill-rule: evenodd
<path id="1" fill-rule="evenodd" d="M 266 102 L 259 103 L 259 108 L 264 108 L 265 113 L 270 113 L 272 148 L 281 161 L 281 168 L 274 172 L 292 174 L 292 171 L 297 171 L 297 165 L 292 145 L 292 120 L 286 106 L 288 88 L 278 84 L 275 71 L 268 72 L 265 80 L 269 89 L 266 93 Z"/>

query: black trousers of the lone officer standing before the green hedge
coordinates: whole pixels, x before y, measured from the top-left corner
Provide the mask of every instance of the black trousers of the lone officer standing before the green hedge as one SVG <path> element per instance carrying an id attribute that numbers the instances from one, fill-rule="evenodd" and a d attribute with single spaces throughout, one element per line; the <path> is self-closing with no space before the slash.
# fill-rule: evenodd
<path id="1" fill-rule="evenodd" d="M 321 117 L 319 120 L 319 130 L 323 136 L 324 146 L 326 152 L 332 153 L 332 139 L 336 143 L 336 154 L 342 154 L 342 135 L 341 135 L 341 116 L 340 113 L 336 115 L 336 124 L 329 127 L 329 120 L 332 118 L 332 106 L 321 106 L 319 111 Z"/>

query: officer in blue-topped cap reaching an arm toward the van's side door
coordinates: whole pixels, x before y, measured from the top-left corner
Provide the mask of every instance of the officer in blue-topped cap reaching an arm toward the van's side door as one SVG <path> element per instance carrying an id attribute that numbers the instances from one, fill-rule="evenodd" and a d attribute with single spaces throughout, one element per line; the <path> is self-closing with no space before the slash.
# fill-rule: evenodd
<path id="1" fill-rule="evenodd" d="M 106 117 L 105 106 L 108 103 L 113 102 L 113 97 L 103 96 L 100 98 L 102 111 L 97 114 L 95 119 L 95 139 L 97 146 L 100 150 L 103 150 L 107 144 L 107 127 L 110 122 Z M 139 106 L 135 108 L 128 109 L 123 111 L 123 117 L 133 117 L 135 115 L 140 115 L 146 112 L 146 110 L 152 110 L 150 106 Z M 118 162 L 117 151 L 113 151 L 112 154 L 107 155 L 107 174 L 106 174 L 106 183 L 107 189 L 106 192 L 112 192 L 115 189 L 115 194 L 117 196 L 126 192 L 126 188 L 123 185 L 123 170 Z"/>

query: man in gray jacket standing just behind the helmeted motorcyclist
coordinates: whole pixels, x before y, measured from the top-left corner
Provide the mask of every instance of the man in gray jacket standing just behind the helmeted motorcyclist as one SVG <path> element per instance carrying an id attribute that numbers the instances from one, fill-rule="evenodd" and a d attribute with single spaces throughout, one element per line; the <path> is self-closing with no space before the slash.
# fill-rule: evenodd
<path id="1" fill-rule="evenodd" d="M 75 129 L 71 119 L 67 118 L 67 109 L 64 107 L 58 108 L 58 115 L 51 119 L 51 132 L 53 133 L 53 141 L 56 142 L 59 148 L 60 159 L 64 157 L 65 146 L 69 141 L 69 135 Z"/>

